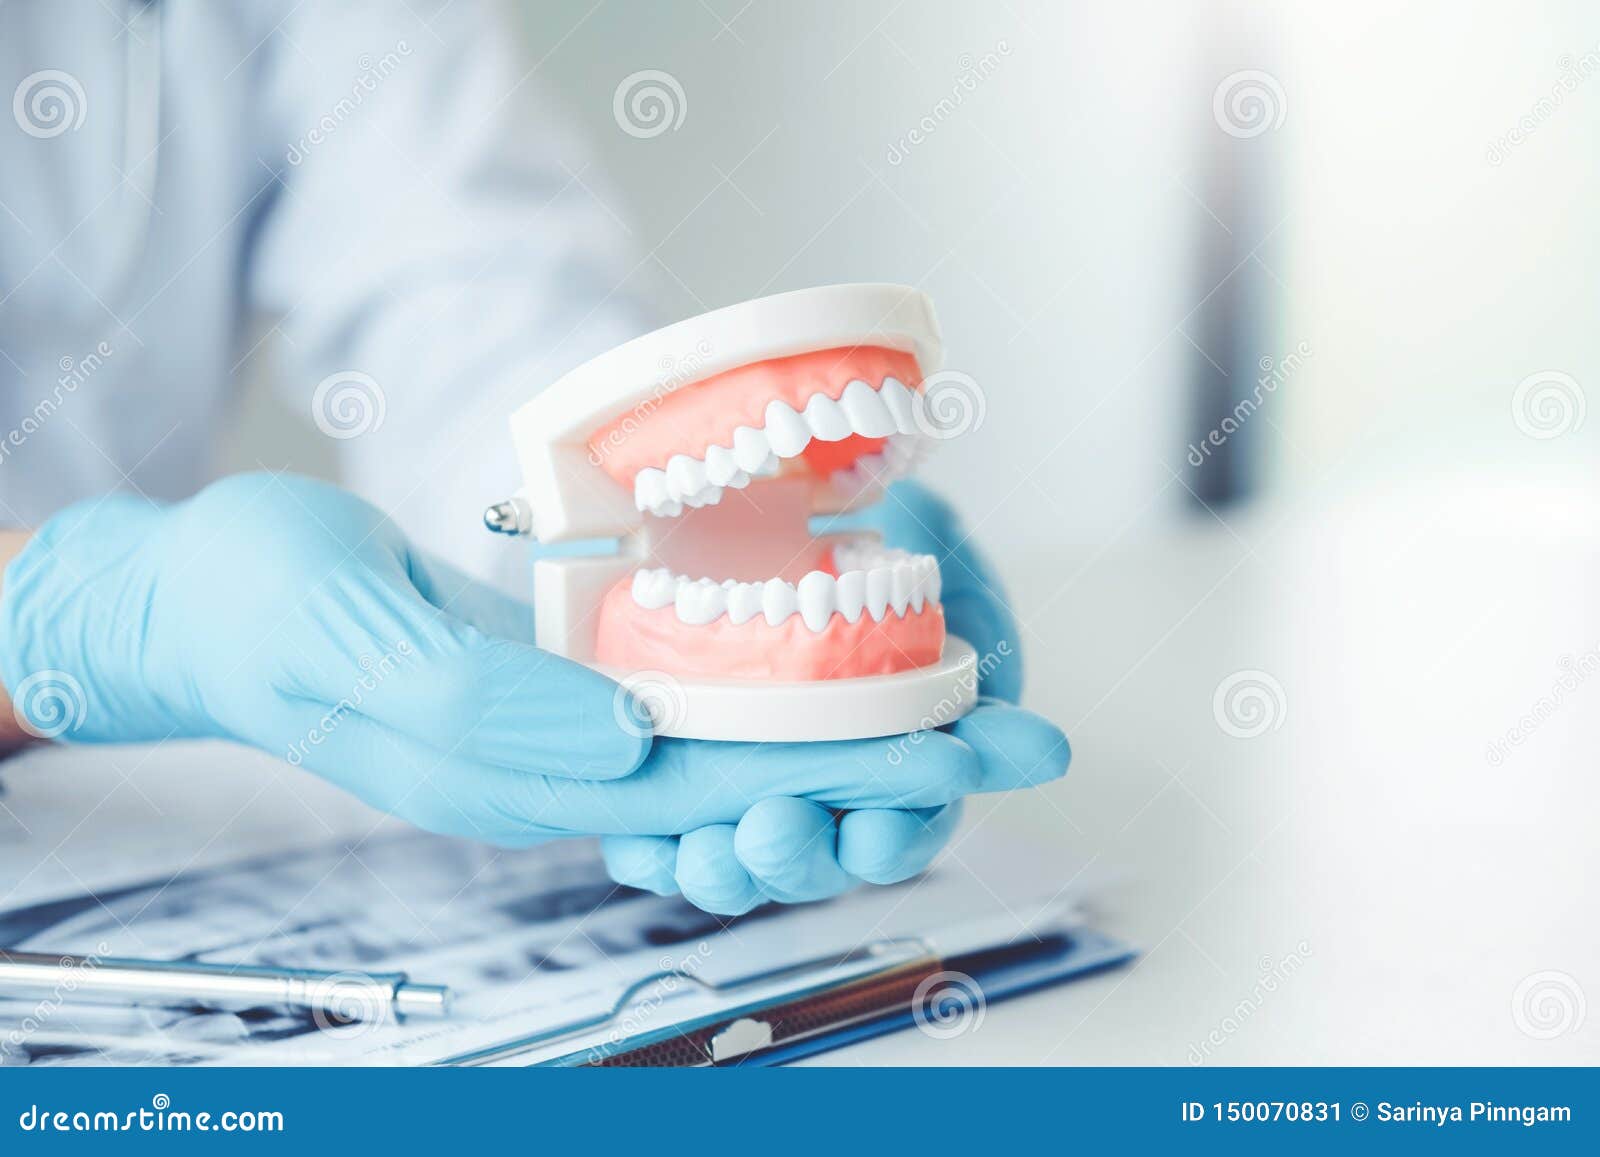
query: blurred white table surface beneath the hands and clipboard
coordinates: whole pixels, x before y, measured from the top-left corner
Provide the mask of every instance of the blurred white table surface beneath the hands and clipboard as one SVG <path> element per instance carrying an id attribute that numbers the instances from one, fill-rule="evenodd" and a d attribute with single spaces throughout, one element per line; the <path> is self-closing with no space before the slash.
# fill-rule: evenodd
<path id="1" fill-rule="evenodd" d="M 1370 498 L 1003 560 L 1029 704 L 1075 759 L 968 824 L 1037 848 L 1040 890 L 1070 885 L 1142 955 L 992 1003 L 954 1039 L 816 1063 L 1600 1061 L 1595 514 L 1566 491 Z M 1592 674 L 1493 765 L 1488 744 L 1586 655 Z M 1283 690 L 1256 738 L 1213 714 L 1240 671 Z M 109 749 L 109 794 L 72 775 L 42 792 L 51 752 L 26 760 L 0 803 L 29 810 L 0 810 L 0 856 L 18 824 L 82 824 L 8 872 L 13 895 L 110 882 L 120 856 L 221 863 L 370 823 L 264 759 L 170 791 L 158 752 Z"/>

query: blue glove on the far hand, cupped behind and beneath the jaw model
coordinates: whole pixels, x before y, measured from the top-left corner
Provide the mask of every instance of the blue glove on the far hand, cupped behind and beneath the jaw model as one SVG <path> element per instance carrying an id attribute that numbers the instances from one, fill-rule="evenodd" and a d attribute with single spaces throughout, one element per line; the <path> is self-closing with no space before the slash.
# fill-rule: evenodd
<path id="1" fill-rule="evenodd" d="M 901 482 L 883 502 L 830 528 L 845 526 L 877 530 L 890 546 L 934 555 L 949 631 L 979 655 L 982 703 L 942 735 L 922 731 L 888 741 L 888 757 L 915 759 L 926 743 L 947 738 L 978 755 L 979 791 L 1026 787 L 1066 775 L 1066 736 L 1038 715 L 1010 706 L 1022 690 L 1016 619 L 949 504 L 925 486 Z M 787 751 L 770 744 L 763 757 Z M 909 879 L 933 861 L 958 819 L 960 802 L 915 810 L 861 805 L 835 816 L 808 800 L 768 799 L 738 824 L 682 837 L 610 837 L 602 848 L 611 877 L 621 883 L 662 895 L 682 891 L 699 907 L 738 914 L 766 899 L 826 899 L 859 883 Z"/>

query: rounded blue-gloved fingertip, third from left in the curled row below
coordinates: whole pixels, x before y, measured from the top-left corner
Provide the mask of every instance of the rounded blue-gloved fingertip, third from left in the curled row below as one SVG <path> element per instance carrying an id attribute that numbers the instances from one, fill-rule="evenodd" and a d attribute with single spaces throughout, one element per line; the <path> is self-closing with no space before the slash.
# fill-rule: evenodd
<path id="1" fill-rule="evenodd" d="M 856 887 L 838 866 L 838 827 L 821 803 L 790 795 L 765 799 L 744 813 L 733 851 L 773 899 L 798 904 Z"/>

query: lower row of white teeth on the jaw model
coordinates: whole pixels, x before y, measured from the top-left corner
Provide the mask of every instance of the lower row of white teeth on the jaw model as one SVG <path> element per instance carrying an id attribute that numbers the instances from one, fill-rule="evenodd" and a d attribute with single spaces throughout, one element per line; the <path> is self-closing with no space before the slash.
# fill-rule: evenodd
<path id="1" fill-rule="evenodd" d="M 845 570 L 846 558 L 872 565 Z M 840 547 L 834 560 L 843 573 L 814 570 L 800 583 L 717 583 L 674 574 L 664 566 L 642 570 L 634 573 L 634 602 L 648 610 L 672 607 L 678 621 L 690 626 L 706 626 L 723 615 L 739 626 L 760 615 L 776 627 L 798 615 L 811 631 L 827 627 L 834 615 L 845 616 L 846 623 L 862 615 L 882 623 L 891 611 L 902 618 L 907 608 L 920 613 L 925 605 L 939 602 L 939 565 L 933 555 L 883 549 L 846 555 Z"/>

